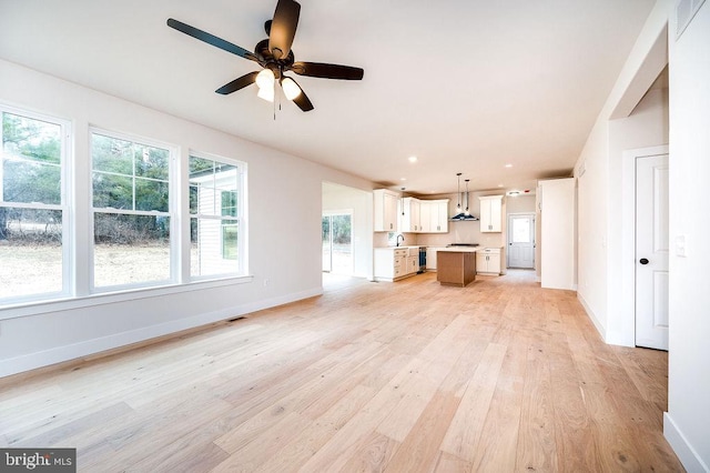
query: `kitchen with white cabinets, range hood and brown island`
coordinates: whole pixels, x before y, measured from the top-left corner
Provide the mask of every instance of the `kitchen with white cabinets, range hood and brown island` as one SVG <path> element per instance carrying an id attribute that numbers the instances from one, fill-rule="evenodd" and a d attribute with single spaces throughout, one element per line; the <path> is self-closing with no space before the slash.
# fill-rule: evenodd
<path id="1" fill-rule="evenodd" d="M 420 199 L 374 191 L 374 279 L 436 271 L 443 285 L 506 272 L 506 197 L 458 193 Z"/>

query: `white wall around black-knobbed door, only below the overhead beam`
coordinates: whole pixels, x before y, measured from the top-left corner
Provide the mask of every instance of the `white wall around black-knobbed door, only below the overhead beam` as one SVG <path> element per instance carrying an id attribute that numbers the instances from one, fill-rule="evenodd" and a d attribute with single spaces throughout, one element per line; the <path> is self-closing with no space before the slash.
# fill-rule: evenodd
<path id="1" fill-rule="evenodd" d="M 649 91 L 628 118 L 597 121 L 578 160 L 577 294 L 607 343 L 633 346 L 633 306 L 622 284 L 622 252 L 633 222 L 623 219 L 627 150 L 668 143 L 668 90 Z M 629 227 L 630 225 L 630 227 Z"/>

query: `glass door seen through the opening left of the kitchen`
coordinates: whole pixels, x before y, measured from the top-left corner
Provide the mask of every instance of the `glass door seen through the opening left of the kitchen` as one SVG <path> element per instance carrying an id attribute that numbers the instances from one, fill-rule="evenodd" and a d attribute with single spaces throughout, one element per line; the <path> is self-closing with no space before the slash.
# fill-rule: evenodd
<path id="1" fill-rule="evenodd" d="M 353 213 L 325 212 L 322 220 L 323 272 L 353 274 Z"/>

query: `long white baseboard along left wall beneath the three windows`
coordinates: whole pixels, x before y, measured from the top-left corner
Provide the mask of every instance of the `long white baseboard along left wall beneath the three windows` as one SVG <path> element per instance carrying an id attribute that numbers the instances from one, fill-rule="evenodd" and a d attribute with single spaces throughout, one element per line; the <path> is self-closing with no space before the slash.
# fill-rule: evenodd
<path id="1" fill-rule="evenodd" d="M 57 363 L 62 363 L 70 360 L 75 360 L 82 356 L 89 356 L 133 343 L 144 342 L 150 339 L 169 335 L 171 333 L 181 332 L 183 330 L 209 325 L 211 323 L 221 322 L 223 320 L 244 315 L 251 312 L 274 308 L 276 305 L 287 304 L 290 302 L 295 302 L 321 294 L 323 294 L 323 289 L 314 288 L 307 291 L 291 293 L 278 298 L 265 299 L 263 301 L 236 305 L 221 311 L 202 313 L 190 318 L 132 330 L 129 332 L 115 333 L 108 336 L 85 340 L 83 342 L 74 343 L 71 345 L 57 346 L 51 350 L 6 359 L 0 361 L 0 378 L 49 366 Z"/>

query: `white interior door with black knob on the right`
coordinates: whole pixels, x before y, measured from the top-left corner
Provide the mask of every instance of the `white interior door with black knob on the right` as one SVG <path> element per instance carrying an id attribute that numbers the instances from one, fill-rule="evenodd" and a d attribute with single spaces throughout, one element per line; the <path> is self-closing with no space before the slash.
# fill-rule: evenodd
<path id="1" fill-rule="evenodd" d="M 636 160 L 636 344 L 668 350 L 668 154 Z"/>

